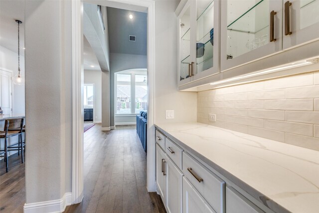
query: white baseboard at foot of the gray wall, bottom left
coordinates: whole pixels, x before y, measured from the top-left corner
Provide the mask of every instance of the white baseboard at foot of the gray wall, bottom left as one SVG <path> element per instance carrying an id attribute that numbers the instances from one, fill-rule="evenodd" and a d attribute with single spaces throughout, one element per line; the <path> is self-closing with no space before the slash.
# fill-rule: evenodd
<path id="1" fill-rule="evenodd" d="M 62 213 L 72 204 L 72 193 L 65 193 L 60 200 L 24 204 L 24 213 Z"/>

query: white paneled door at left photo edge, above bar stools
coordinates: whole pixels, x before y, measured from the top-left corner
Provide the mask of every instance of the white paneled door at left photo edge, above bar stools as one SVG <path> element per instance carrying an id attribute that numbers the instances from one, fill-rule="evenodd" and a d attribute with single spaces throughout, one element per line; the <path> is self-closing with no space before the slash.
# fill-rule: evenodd
<path id="1" fill-rule="evenodd" d="M 0 70 L 0 107 L 3 114 L 11 113 L 11 94 L 11 72 Z"/>

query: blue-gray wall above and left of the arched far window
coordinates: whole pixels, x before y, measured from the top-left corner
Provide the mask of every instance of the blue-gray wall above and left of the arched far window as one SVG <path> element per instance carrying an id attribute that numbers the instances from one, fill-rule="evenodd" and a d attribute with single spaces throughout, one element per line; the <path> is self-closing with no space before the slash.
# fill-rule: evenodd
<path id="1" fill-rule="evenodd" d="M 147 56 L 146 55 L 131 55 L 131 54 L 110 54 L 110 126 L 115 126 L 114 117 L 114 73 L 136 68 L 147 68 Z M 123 121 L 123 120 L 122 120 Z M 118 122 L 118 121 L 117 121 Z M 127 121 L 129 122 L 129 121 Z"/>

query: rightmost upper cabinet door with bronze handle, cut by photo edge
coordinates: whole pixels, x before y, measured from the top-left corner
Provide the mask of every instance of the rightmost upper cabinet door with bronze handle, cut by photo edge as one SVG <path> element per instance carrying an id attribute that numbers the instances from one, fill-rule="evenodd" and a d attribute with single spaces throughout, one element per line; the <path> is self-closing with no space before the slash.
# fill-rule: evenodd
<path id="1" fill-rule="evenodd" d="M 319 0 L 284 0 L 283 7 L 284 49 L 319 39 Z"/>

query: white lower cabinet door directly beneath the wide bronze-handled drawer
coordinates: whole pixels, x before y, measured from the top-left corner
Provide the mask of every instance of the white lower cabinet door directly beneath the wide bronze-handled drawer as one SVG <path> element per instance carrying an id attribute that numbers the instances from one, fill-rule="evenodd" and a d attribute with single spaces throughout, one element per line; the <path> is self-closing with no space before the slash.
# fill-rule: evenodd
<path id="1" fill-rule="evenodd" d="M 185 177 L 183 177 L 183 213 L 215 213 Z"/>

